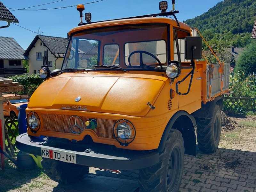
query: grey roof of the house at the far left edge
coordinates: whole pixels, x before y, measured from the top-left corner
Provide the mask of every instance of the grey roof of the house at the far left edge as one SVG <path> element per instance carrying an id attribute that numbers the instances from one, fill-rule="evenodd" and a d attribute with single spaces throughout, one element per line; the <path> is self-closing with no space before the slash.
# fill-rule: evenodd
<path id="1" fill-rule="evenodd" d="M 12 37 L 0 36 L 0 59 L 28 59 L 24 50 Z"/>

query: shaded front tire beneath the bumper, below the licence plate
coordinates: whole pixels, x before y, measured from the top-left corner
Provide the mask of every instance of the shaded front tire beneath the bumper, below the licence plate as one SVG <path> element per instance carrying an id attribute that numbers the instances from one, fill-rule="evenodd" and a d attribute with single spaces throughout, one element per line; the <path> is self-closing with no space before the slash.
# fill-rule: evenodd
<path id="1" fill-rule="evenodd" d="M 43 158 L 41 164 L 45 174 L 50 179 L 63 184 L 71 184 L 84 179 L 84 174 L 89 173 L 89 167 L 84 165 L 66 163 L 54 159 Z"/>

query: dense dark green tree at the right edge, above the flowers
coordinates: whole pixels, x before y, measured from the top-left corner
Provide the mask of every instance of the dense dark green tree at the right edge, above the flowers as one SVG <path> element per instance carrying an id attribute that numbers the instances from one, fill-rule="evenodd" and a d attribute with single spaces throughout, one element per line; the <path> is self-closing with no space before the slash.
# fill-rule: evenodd
<path id="1" fill-rule="evenodd" d="M 246 46 L 244 52 L 238 57 L 236 71 L 244 71 L 246 75 L 256 73 L 256 41 Z"/>

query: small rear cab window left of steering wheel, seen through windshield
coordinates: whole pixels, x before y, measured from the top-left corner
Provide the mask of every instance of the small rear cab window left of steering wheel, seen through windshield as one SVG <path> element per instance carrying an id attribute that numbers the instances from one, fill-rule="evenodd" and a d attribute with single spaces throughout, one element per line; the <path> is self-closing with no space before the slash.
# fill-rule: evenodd
<path id="1" fill-rule="evenodd" d="M 119 46 L 118 44 L 107 44 L 103 48 L 103 65 L 116 65 L 120 64 Z"/>

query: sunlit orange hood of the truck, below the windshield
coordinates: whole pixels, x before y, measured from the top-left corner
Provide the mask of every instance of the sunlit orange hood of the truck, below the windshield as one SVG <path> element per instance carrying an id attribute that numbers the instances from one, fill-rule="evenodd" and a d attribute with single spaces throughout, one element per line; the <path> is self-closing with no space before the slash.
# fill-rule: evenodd
<path id="1" fill-rule="evenodd" d="M 145 116 L 164 86 L 164 77 L 100 72 L 64 73 L 45 80 L 28 108 L 86 107 L 87 111 Z M 158 77 L 158 78 L 157 78 Z M 81 100 L 76 102 L 76 97 Z"/>

